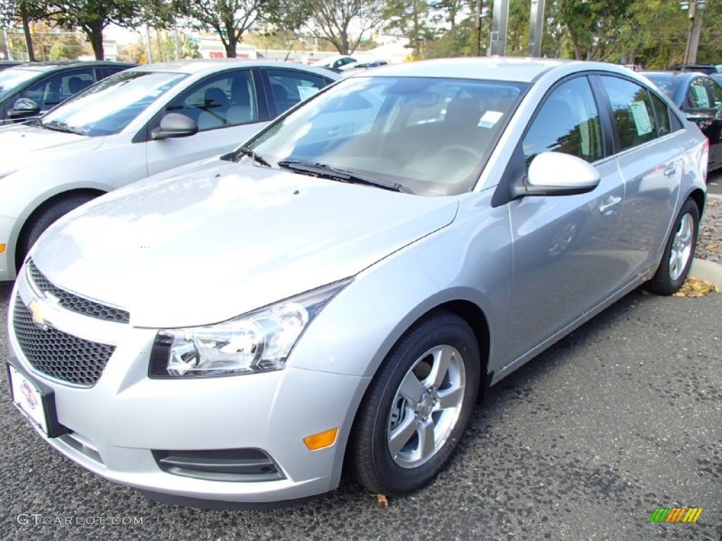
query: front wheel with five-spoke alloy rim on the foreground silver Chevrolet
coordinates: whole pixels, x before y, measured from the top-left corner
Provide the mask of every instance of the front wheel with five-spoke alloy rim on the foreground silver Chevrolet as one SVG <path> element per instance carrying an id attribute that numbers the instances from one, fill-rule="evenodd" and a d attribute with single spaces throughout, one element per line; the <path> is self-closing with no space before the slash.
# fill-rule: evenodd
<path id="1" fill-rule="evenodd" d="M 437 312 L 409 328 L 356 415 L 349 458 L 357 480 L 400 496 L 435 478 L 474 411 L 480 366 L 477 339 L 461 317 Z"/>

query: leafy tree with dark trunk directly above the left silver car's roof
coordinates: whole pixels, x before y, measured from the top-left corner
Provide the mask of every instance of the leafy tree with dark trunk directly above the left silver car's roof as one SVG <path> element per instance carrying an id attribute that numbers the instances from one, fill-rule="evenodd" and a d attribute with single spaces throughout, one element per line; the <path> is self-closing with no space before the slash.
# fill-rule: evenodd
<path id="1" fill-rule="evenodd" d="M 308 6 L 290 0 L 175 0 L 175 8 L 196 30 L 216 32 L 228 58 L 254 25 L 295 30 L 308 19 Z"/>

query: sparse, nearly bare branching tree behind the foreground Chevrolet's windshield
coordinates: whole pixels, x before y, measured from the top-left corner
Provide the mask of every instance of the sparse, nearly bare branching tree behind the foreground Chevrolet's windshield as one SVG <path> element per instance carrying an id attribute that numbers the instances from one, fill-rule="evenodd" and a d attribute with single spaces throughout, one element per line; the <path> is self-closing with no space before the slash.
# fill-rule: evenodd
<path id="1" fill-rule="evenodd" d="M 342 55 L 353 53 L 363 35 L 381 20 L 380 0 L 306 0 L 310 8 L 312 35 L 334 44 Z M 357 35 L 351 38 L 349 26 L 355 24 Z"/>

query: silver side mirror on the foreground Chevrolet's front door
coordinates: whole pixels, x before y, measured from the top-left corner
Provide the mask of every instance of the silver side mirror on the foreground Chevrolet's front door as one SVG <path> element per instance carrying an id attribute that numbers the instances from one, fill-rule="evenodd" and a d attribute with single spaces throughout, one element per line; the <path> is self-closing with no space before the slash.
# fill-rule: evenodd
<path id="1" fill-rule="evenodd" d="M 531 160 L 526 177 L 513 185 L 512 199 L 588 193 L 600 180 L 596 167 L 581 158 L 561 152 L 542 152 Z"/>

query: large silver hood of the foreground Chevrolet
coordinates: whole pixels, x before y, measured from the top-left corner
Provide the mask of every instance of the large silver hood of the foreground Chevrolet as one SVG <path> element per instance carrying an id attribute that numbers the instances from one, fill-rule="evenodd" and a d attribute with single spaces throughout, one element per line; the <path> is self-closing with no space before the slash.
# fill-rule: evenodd
<path id="1" fill-rule="evenodd" d="M 219 162 L 105 195 L 35 245 L 63 289 L 131 325 L 206 325 L 354 276 L 453 221 L 426 198 Z"/>

